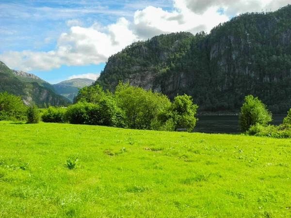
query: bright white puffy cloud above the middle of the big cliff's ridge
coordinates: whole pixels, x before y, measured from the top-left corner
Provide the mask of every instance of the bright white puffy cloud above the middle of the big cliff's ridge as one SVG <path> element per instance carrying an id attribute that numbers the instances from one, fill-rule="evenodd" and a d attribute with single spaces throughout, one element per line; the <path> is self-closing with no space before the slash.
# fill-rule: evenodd
<path id="1" fill-rule="evenodd" d="M 195 14 L 187 7 L 180 5 L 180 11 L 167 12 L 152 6 L 134 14 L 136 34 L 147 39 L 154 35 L 177 31 L 210 31 L 212 27 L 227 21 L 229 18 L 217 12 L 217 8 L 209 8 L 203 14 Z"/>

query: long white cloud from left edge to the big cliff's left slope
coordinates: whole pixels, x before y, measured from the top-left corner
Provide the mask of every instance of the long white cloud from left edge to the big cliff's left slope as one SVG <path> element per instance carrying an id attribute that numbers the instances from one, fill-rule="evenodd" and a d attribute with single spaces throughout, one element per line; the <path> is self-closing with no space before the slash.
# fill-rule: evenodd
<path id="1" fill-rule="evenodd" d="M 101 30 L 99 30 L 101 29 Z M 23 71 L 51 70 L 61 65 L 88 65 L 106 62 L 108 57 L 137 40 L 129 30 L 129 21 L 119 18 L 105 28 L 92 25 L 89 28 L 74 26 L 62 33 L 57 49 L 49 52 L 6 51 L 0 60 L 11 68 Z"/>

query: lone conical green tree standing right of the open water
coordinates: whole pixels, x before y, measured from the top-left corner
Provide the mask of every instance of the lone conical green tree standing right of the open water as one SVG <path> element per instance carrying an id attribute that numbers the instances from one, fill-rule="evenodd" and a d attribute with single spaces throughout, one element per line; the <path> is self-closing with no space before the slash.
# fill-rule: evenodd
<path id="1" fill-rule="evenodd" d="M 243 132 L 247 131 L 252 125 L 267 125 L 270 121 L 272 121 L 272 113 L 258 97 L 255 98 L 251 94 L 244 97 L 239 115 L 239 125 Z"/>

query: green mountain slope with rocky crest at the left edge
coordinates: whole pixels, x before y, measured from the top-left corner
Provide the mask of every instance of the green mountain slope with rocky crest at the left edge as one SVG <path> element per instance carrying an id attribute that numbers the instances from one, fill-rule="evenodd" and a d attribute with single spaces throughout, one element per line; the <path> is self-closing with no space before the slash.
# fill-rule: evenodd
<path id="1" fill-rule="evenodd" d="M 21 78 L 20 74 L 23 74 L 25 78 Z M 43 106 L 44 103 L 52 106 L 67 105 L 63 96 L 54 93 L 49 88 L 35 81 L 40 81 L 40 78 L 37 78 L 35 75 L 33 75 L 35 78 L 29 78 L 28 75 L 25 72 L 17 73 L 8 68 L 5 63 L 0 62 L 0 92 L 8 92 L 17 96 L 22 95 L 23 103 L 26 105 L 32 105 L 33 103 L 38 106 Z M 29 82 L 29 79 L 32 82 Z M 45 83 L 44 80 L 42 81 L 42 83 Z"/>

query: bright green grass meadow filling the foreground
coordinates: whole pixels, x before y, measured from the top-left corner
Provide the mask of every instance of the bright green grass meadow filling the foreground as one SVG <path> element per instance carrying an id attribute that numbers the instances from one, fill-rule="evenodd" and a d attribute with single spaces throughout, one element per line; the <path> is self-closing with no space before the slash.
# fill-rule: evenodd
<path id="1" fill-rule="evenodd" d="M 0 217 L 291 217 L 290 157 L 290 139 L 0 122 Z"/>

